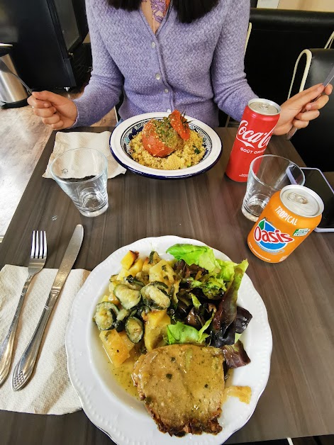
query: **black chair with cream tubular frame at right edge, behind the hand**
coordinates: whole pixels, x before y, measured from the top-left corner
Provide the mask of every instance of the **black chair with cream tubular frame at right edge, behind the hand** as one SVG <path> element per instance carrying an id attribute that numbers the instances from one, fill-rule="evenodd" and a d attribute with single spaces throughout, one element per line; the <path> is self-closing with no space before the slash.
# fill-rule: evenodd
<path id="1" fill-rule="evenodd" d="M 303 50 L 296 60 L 289 96 L 325 80 L 334 66 L 334 49 Z M 333 83 L 333 81 L 332 81 Z M 308 167 L 334 171 L 334 98 L 321 109 L 320 116 L 291 137 L 291 142 Z"/>

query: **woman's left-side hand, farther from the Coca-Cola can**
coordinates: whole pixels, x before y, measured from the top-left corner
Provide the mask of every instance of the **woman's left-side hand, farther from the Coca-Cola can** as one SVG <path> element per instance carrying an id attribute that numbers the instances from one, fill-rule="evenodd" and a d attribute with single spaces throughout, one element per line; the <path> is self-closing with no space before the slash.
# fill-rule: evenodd
<path id="1" fill-rule="evenodd" d="M 72 127 L 77 119 L 77 107 L 71 99 L 50 91 L 33 91 L 28 98 L 36 116 L 54 130 Z"/>

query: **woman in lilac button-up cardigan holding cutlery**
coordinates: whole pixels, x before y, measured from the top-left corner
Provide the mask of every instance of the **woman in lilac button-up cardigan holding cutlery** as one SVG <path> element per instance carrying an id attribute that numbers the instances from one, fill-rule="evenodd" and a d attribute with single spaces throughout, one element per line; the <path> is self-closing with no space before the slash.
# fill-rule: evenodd
<path id="1" fill-rule="evenodd" d="M 54 129 L 91 125 L 118 103 L 126 119 L 174 108 L 218 126 L 218 108 L 240 120 L 257 97 L 243 71 L 248 0 L 87 0 L 93 55 L 89 85 L 77 100 L 34 92 L 28 103 Z M 274 134 L 304 128 L 332 86 L 313 86 L 282 104 Z M 323 96 L 310 103 L 321 92 Z M 301 110 L 306 107 L 306 112 Z"/>

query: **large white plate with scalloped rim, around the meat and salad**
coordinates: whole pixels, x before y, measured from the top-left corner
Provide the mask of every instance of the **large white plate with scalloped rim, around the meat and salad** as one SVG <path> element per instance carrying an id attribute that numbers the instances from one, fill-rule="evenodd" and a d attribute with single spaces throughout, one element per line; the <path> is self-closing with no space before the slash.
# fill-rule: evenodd
<path id="1" fill-rule="evenodd" d="M 250 278 L 245 275 L 238 293 L 238 305 L 252 314 L 252 320 L 243 334 L 243 343 L 251 363 L 233 373 L 234 385 L 250 385 L 250 404 L 229 398 L 223 405 L 219 422 L 223 431 L 212 434 L 179 438 L 163 434 L 147 413 L 143 402 L 128 395 L 108 371 L 107 357 L 99 340 L 92 316 L 96 303 L 108 288 L 108 279 L 121 269 L 120 261 L 129 249 L 147 256 L 154 249 L 162 258 L 172 259 L 166 249 L 176 243 L 204 245 L 203 242 L 175 236 L 144 238 L 116 250 L 91 272 L 72 305 L 66 332 L 66 351 L 69 378 L 87 417 L 118 445 L 219 445 L 247 422 L 254 412 L 257 400 L 269 377 L 272 352 L 272 333 L 267 311 Z M 216 249 L 217 258 L 229 259 Z"/>

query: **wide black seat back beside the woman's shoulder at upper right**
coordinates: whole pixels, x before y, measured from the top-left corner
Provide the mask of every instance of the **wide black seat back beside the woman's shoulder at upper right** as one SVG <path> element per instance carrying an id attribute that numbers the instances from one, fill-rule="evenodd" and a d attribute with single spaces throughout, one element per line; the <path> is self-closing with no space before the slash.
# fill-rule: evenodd
<path id="1" fill-rule="evenodd" d="M 257 96 L 281 104 L 301 51 L 323 48 L 333 37 L 334 12 L 251 8 L 250 22 L 245 54 L 248 84 Z"/>

